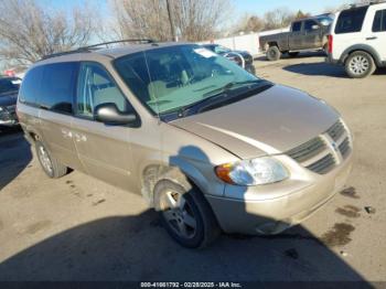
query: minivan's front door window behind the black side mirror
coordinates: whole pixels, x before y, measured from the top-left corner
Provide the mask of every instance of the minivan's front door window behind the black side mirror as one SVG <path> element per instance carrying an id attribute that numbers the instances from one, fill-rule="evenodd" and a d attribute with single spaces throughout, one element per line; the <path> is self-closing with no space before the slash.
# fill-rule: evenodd
<path id="1" fill-rule="evenodd" d="M 101 65 L 83 63 L 76 93 L 76 115 L 93 118 L 96 106 L 109 103 L 115 104 L 120 113 L 126 113 L 129 107 L 126 97 Z"/>

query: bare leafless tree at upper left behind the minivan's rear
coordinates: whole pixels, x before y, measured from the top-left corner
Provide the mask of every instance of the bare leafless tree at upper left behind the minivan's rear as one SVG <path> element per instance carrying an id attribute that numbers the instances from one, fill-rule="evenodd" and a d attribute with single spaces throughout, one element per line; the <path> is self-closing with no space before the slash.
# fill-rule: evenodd
<path id="1" fill-rule="evenodd" d="M 0 0 L 0 60 L 28 64 L 55 52 L 88 43 L 93 35 L 92 9 L 76 7 L 49 11 L 36 0 Z M 95 14 L 95 11 L 93 11 Z"/>

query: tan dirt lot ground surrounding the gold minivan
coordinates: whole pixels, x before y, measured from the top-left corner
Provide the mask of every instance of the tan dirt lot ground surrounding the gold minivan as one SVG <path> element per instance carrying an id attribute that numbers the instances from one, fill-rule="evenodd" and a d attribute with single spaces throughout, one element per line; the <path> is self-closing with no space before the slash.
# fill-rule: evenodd
<path id="1" fill-rule="evenodd" d="M 386 281 L 386 72 L 353 81 L 321 56 L 256 66 L 325 99 L 352 128 L 354 169 L 330 204 L 277 237 L 224 235 L 189 250 L 140 196 L 78 172 L 49 180 L 21 133 L 2 133 L 0 280 Z"/>

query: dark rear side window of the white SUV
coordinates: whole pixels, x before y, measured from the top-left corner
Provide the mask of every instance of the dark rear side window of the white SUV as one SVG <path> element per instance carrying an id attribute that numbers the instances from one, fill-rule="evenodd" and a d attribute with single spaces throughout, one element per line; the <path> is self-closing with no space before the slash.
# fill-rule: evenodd
<path id="1" fill-rule="evenodd" d="M 339 15 L 335 34 L 361 32 L 368 7 L 344 10 Z"/>

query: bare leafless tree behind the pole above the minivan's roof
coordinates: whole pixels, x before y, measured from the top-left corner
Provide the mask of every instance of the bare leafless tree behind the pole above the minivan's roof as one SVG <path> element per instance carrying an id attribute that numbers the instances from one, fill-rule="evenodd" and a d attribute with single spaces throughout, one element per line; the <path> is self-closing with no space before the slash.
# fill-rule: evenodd
<path id="1" fill-rule="evenodd" d="M 172 39 L 165 0 L 111 0 L 120 38 Z M 180 39 L 213 38 L 225 20 L 227 0 L 170 0 L 173 23 Z"/>

